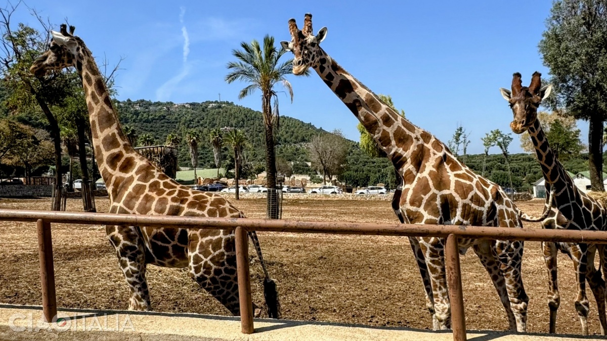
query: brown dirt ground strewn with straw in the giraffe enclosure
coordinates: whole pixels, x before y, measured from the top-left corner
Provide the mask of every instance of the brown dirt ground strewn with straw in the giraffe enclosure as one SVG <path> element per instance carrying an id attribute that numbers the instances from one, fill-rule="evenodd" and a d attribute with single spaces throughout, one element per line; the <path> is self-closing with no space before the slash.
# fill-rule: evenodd
<path id="1" fill-rule="evenodd" d="M 265 200 L 236 203 L 249 218 L 265 217 Z M 109 200 L 97 198 L 99 212 Z M 524 212 L 538 215 L 541 201 L 518 203 Z M 0 199 L 2 209 L 48 209 L 49 199 Z M 69 211 L 81 211 L 82 202 L 68 200 Z M 398 222 L 388 201 L 287 199 L 283 218 Z M 527 223 L 526 228 L 540 228 Z M 53 224 L 53 251 L 57 301 L 61 307 L 126 309 L 128 288 L 118 268 L 114 249 L 102 226 Z M 40 305 L 36 226 L 0 221 L 0 302 Z M 429 328 L 418 269 L 407 238 L 277 234 L 260 232 L 264 257 L 279 286 L 283 317 L 294 320 L 361 323 L 374 326 Z M 540 243 L 528 242 L 523 280 L 530 297 L 527 331 L 548 333 L 547 277 Z M 251 254 L 254 254 L 251 248 Z M 262 271 L 254 257 L 251 273 L 253 300 L 263 303 Z M 558 333 L 579 334 L 574 308 L 572 263 L 560 262 L 561 306 Z M 486 271 L 472 250 L 461 257 L 466 323 L 469 329 L 507 329 L 504 309 Z M 185 269 L 148 266 L 148 283 L 155 311 L 228 315 L 228 311 L 186 274 Z M 594 297 L 589 332 L 600 331 Z"/>

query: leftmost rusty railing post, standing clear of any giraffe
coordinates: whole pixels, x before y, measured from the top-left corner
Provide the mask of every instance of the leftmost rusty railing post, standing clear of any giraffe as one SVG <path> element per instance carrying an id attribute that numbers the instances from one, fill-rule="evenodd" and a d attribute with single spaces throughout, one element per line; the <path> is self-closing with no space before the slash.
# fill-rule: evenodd
<path id="1" fill-rule="evenodd" d="M 50 223 L 39 219 L 38 257 L 40 258 L 40 280 L 42 283 L 42 313 L 46 322 L 53 322 L 57 316 L 57 298 L 55 295 L 55 267 L 53 265 L 53 241 L 50 235 Z"/>

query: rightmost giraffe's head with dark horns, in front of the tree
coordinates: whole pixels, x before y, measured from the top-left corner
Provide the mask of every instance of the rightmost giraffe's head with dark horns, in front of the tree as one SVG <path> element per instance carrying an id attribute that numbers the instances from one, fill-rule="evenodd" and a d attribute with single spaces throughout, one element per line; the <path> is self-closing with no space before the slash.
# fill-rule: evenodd
<path id="1" fill-rule="evenodd" d="M 501 95 L 510 103 L 514 120 L 510 123 L 513 132 L 520 134 L 531 127 L 537 119 L 537 108 L 541 100 L 548 97 L 552 84 L 541 86 L 541 73 L 534 72 L 529 87 L 523 86 L 521 74 L 512 75 L 512 91 L 500 88 Z"/>

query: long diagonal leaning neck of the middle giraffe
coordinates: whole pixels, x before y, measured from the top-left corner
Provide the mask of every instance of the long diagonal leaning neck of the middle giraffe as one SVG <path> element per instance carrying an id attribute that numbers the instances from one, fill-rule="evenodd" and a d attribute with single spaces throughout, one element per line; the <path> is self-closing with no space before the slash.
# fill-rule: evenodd
<path id="1" fill-rule="evenodd" d="M 431 135 L 385 105 L 375 93 L 346 72 L 322 49 L 319 58 L 319 64 L 314 70 L 361 121 L 396 169 L 411 164 L 411 161 L 421 160 L 419 154 L 423 148 L 419 148 L 419 145 L 423 144 L 421 140 L 429 141 Z"/>

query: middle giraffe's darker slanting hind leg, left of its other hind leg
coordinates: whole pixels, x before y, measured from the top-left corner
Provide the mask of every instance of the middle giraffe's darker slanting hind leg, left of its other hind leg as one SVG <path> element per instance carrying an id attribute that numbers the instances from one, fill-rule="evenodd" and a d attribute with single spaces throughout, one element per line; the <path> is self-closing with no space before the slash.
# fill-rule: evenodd
<path id="1" fill-rule="evenodd" d="M 514 312 L 510 306 L 510 297 L 506 289 L 506 279 L 504 279 L 504 274 L 501 272 L 497 254 L 491 243 L 492 241 L 490 240 L 483 240 L 480 244 L 474 245 L 473 249 L 476 255 L 478 255 L 481 264 L 487 272 L 489 272 L 491 282 L 493 282 L 493 286 L 495 286 L 495 290 L 500 296 L 501 304 L 504 306 L 504 309 L 506 309 L 510 331 L 516 331 L 517 319 L 514 317 Z"/>

